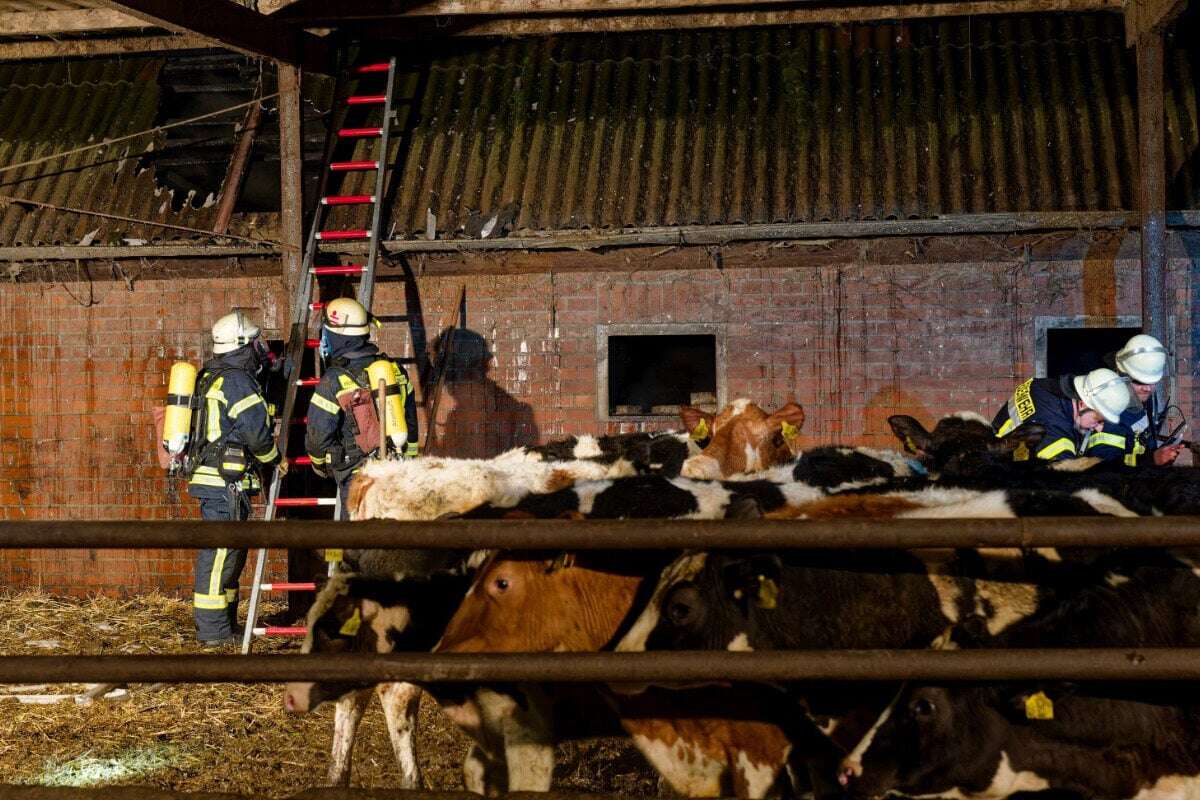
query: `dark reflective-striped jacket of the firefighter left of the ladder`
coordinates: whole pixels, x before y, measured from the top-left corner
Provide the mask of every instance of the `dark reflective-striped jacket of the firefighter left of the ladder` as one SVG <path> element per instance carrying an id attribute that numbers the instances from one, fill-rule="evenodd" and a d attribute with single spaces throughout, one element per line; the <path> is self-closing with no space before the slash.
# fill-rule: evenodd
<path id="1" fill-rule="evenodd" d="M 187 492 L 196 498 L 218 498 L 226 493 L 226 480 L 217 464 L 224 445 L 241 445 L 260 464 L 274 463 L 280 453 L 275 447 L 271 416 L 263 399 L 254 374 L 258 357 L 248 347 L 238 348 L 210 359 L 197 378 L 197 395 L 202 409 L 196 422 L 198 451 L 196 468 L 187 481 Z M 257 488 L 252 473 L 242 480 L 244 489 Z"/>

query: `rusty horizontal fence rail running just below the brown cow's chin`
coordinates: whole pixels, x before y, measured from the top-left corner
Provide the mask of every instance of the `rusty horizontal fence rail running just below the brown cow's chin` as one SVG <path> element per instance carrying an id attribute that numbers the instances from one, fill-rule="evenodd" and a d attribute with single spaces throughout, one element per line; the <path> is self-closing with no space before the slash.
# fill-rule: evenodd
<path id="1" fill-rule="evenodd" d="M 5 656 L 0 684 L 1200 680 L 1200 648 Z"/>

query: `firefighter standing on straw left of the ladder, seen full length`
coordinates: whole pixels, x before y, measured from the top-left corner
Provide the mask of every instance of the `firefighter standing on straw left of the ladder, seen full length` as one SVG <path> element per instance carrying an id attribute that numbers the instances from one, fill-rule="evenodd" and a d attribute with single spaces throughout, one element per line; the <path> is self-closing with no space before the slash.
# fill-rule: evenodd
<path id="1" fill-rule="evenodd" d="M 187 493 L 200 501 L 203 518 L 242 521 L 260 486 L 258 467 L 280 461 L 258 384 L 269 350 L 258 326 L 235 311 L 212 324 L 212 354 L 197 379 Z M 200 642 L 236 640 L 238 578 L 245 564 L 244 549 L 203 549 L 196 557 L 192 609 Z"/>

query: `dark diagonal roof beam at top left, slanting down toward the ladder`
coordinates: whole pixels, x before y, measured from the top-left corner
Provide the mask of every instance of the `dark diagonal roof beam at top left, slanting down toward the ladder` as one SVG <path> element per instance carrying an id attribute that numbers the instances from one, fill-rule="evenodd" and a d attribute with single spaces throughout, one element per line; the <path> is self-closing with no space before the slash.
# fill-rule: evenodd
<path id="1" fill-rule="evenodd" d="M 212 40 L 247 55 L 275 59 L 329 74 L 332 53 L 320 38 L 281 24 L 230 0 L 108 0 L 157 28 Z"/>

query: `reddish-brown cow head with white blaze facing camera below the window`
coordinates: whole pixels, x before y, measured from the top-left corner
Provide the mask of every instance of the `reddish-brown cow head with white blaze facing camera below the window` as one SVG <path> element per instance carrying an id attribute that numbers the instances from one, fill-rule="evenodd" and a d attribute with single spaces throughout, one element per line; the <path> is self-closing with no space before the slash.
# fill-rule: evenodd
<path id="1" fill-rule="evenodd" d="M 698 456 L 683 463 L 684 477 L 720 480 L 786 464 L 799 452 L 804 409 L 787 403 L 768 414 L 748 399 L 734 401 L 720 414 L 685 405 L 680 411 L 692 438 L 710 437 Z"/>

